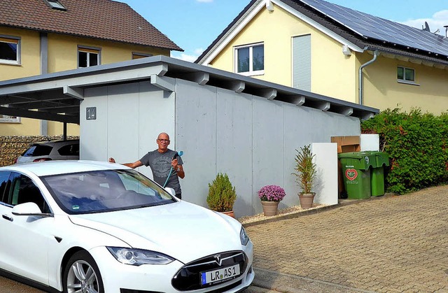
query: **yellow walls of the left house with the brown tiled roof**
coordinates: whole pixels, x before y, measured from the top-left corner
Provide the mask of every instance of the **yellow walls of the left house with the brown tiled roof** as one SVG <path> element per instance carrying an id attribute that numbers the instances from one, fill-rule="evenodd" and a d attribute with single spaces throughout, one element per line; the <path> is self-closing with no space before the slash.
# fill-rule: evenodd
<path id="1" fill-rule="evenodd" d="M 20 37 L 21 42 L 21 64 L 0 64 L 0 81 L 39 75 L 41 73 L 39 32 L 0 27 L 0 34 Z M 76 69 L 78 67 L 78 45 L 101 49 L 102 64 L 131 60 L 132 52 L 170 55 L 169 50 L 162 48 L 48 34 L 48 73 Z M 63 124 L 48 121 L 47 131 L 50 136 L 62 134 Z M 30 136 L 40 133 L 40 120 L 22 117 L 20 123 L 0 122 L 0 136 Z M 79 136 L 79 125 L 67 124 L 67 134 Z"/>

